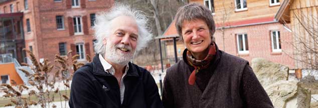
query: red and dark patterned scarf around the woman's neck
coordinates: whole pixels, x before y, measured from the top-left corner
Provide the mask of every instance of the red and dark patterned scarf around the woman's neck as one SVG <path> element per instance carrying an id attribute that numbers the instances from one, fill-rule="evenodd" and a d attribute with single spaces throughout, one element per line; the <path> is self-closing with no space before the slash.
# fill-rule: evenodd
<path id="1" fill-rule="evenodd" d="M 215 54 L 216 54 L 216 47 L 214 42 L 212 42 L 211 45 L 209 46 L 209 53 L 203 60 L 196 60 L 195 58 L 192 58 L 191 52 L 189 50 L 187 51 L 187 61 L 191 66 L 195 68 L 193 72 L 191 73 L 188 80 L 190 85 L 193 85 L 194 82 L 196 81 L 196 74 L 199 72 L 199 70 L 205 69 L 209 66 Z"/>

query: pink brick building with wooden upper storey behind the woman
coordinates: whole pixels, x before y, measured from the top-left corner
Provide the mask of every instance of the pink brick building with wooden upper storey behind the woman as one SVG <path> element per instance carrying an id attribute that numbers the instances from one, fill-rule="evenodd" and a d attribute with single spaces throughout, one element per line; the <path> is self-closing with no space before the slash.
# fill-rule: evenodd
<path id="1" fill-rule="evenodd" d="M 255 57 L 294 68 L 292 33 L 274 19 L 279 0 L 191 0 L 209 7 L 216 21 L 215 41 L 220 50 L 251 61 Z M 164 36 L 179 36 L 175 22 Z M 163 37 L 164 37 L 163 36 Z M 174 57 L 173 44 L 165 39 L 166 57 Z M 182 56 L 185 46 L 177 42 L 177 55 Z M 179 51 L 181 50 L 181 51 Z M 165 54 L 164 54 L 165 55 Z M 164 56 L 165 57 L 165 56 Z"/>

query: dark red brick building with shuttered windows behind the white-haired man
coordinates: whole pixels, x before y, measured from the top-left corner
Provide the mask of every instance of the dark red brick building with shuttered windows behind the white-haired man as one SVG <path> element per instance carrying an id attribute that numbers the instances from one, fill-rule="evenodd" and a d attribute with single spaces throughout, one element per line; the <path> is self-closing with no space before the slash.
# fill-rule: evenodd
<path id="1" fill-rule="evenodd" d="M 113 0 L 2 0 L 0 13 L 23 13 L 26 49 L 37 59 L 52 61 L 55 54 L 70 50 L 94 56 L 93 30 L 95 14 L 109 9 Z M 25 60 L 28 61 L 28 60 Z"/>

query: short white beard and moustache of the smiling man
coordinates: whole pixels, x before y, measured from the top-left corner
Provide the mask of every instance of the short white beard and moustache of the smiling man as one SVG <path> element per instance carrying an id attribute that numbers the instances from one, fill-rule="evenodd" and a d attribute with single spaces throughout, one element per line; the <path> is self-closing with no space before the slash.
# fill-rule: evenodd
<path id="1" fill-rule="evenodd" d="M 118 48 L 126 48 L 129 50 L 128 54 L 121 53 Z M 129 45 L 124 44 L 106 44 L 105 50 L 105 59 L 109 60 L 112 63 L 119 65 L 127 65 L 127 63 L 132 59 L 134 51 Z"/>

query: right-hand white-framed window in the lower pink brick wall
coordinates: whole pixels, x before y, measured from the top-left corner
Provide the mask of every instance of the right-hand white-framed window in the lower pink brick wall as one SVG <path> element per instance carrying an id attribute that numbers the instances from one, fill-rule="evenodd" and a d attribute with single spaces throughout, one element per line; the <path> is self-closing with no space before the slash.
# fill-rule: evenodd
<path id="1" fill-rule="evenodd" d="M 279 31 L 272 31 L 270 38 L 273 52 L 281 52 Z"/>

